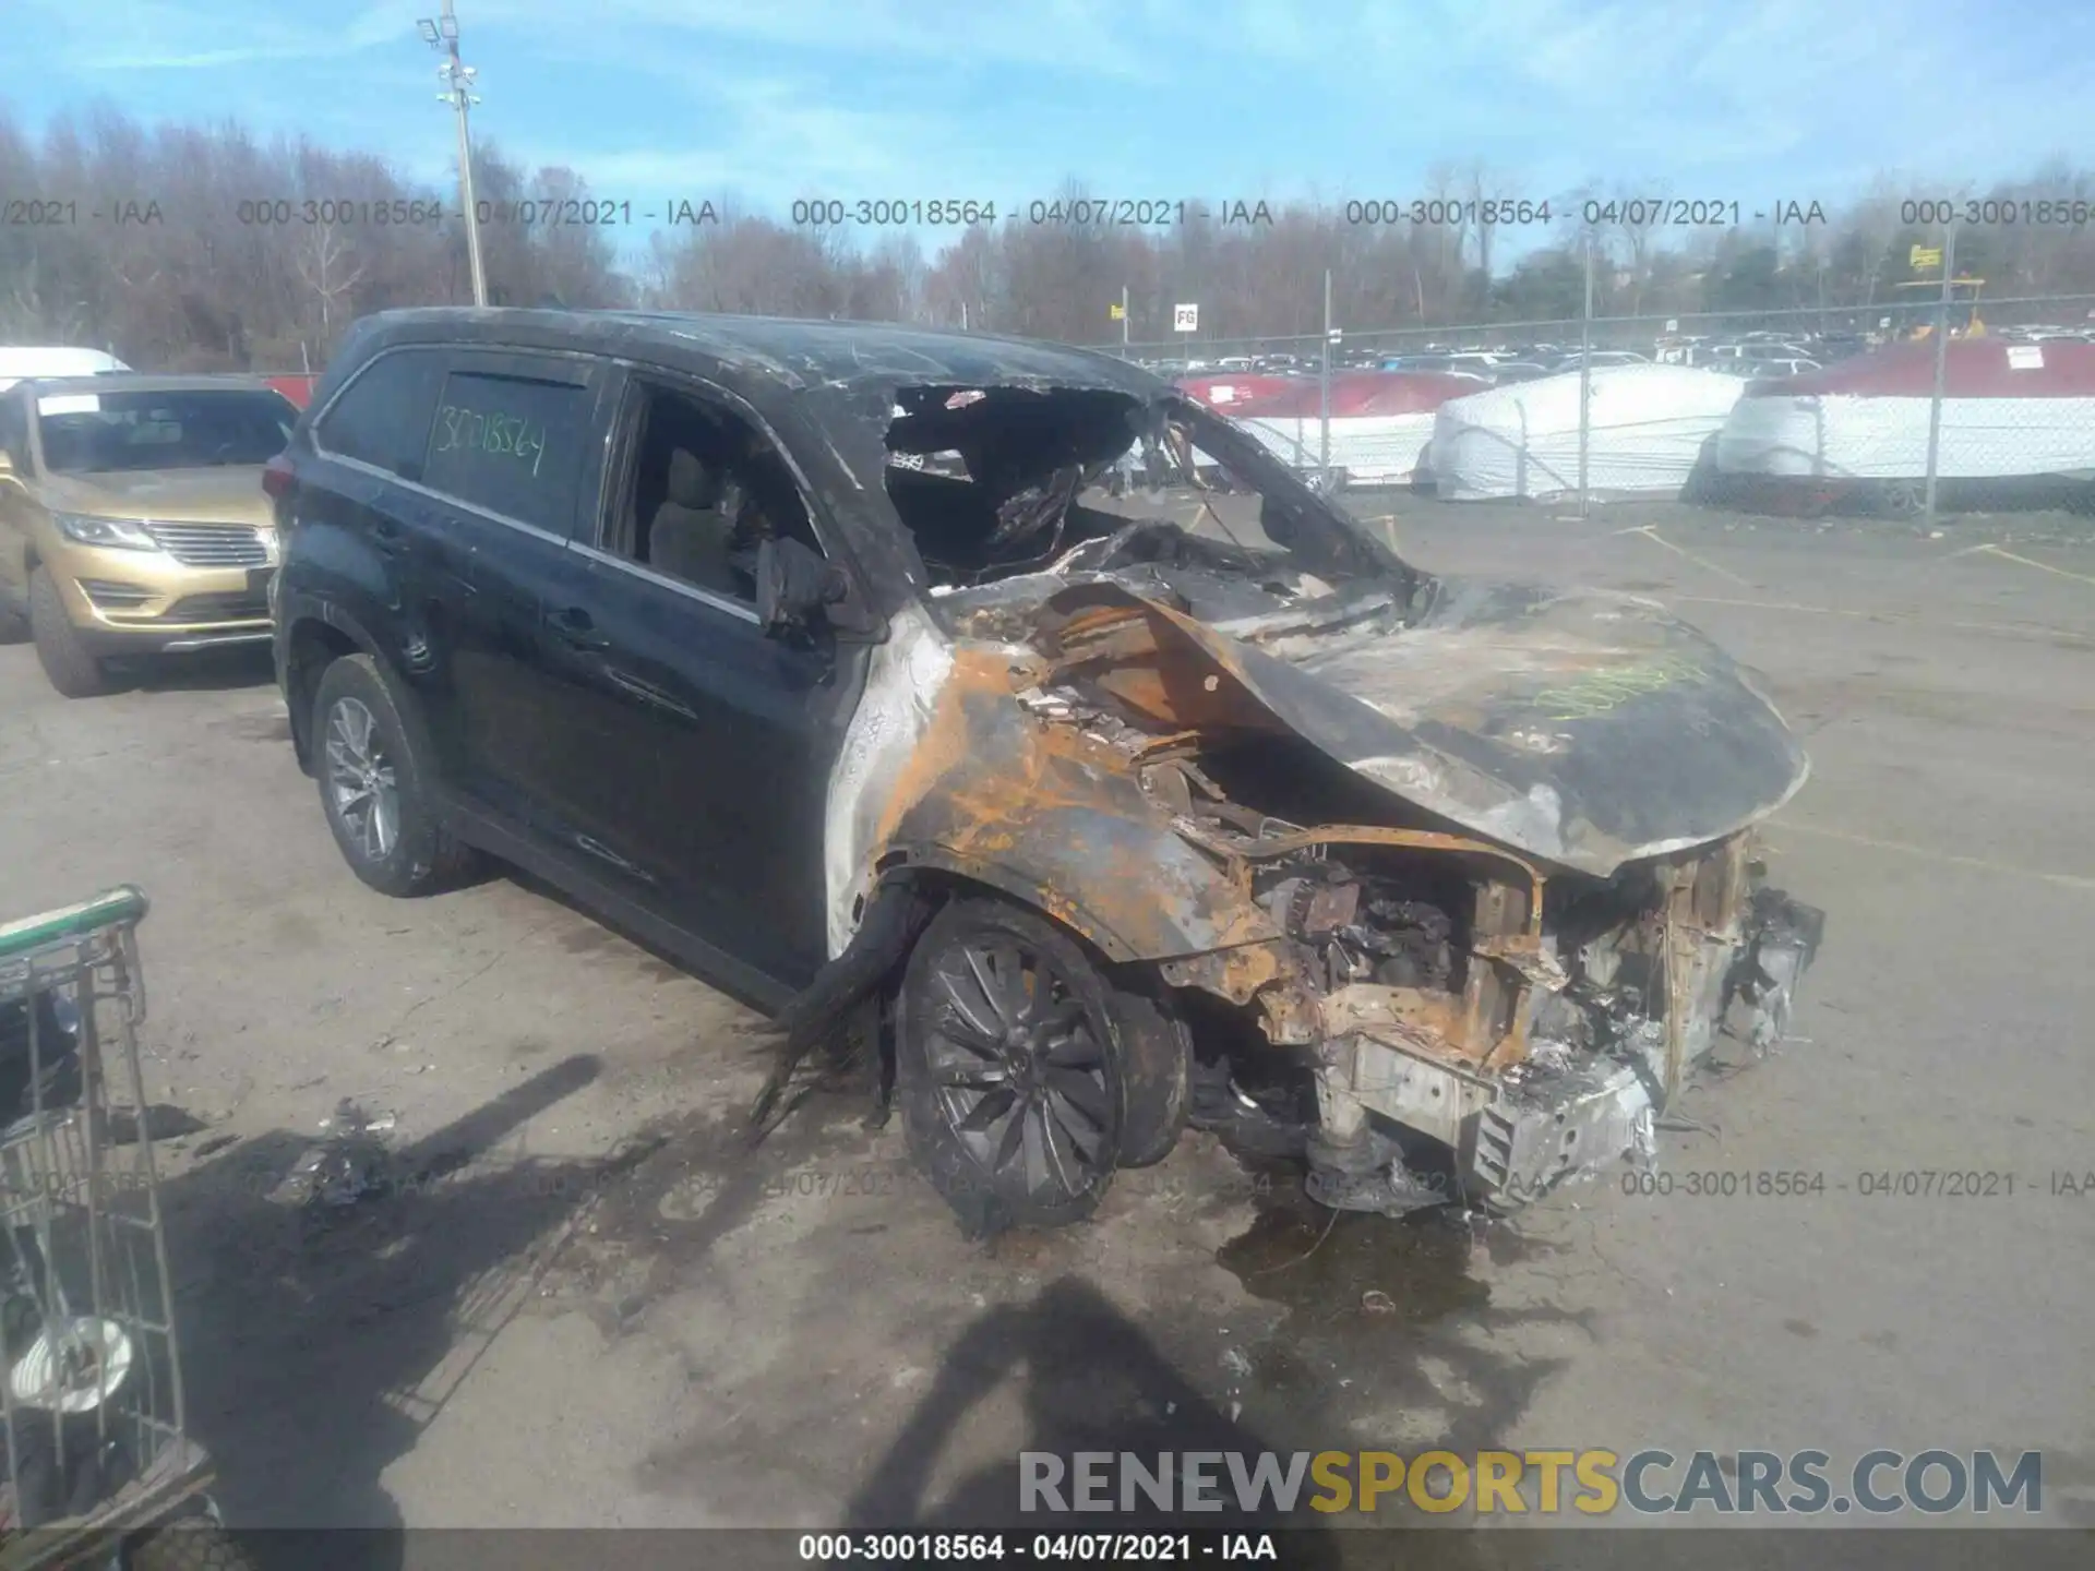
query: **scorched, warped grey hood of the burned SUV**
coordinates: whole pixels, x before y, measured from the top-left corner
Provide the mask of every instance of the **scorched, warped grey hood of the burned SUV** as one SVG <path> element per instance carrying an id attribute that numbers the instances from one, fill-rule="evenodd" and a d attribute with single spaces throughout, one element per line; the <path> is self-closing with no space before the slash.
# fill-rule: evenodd
<path id="1" fill-rule="evenodd" d="M 1121 584 L 1288 729 L 1471 834 L 1596 878 L 1733 834 L 1808 760 L 1710 639 L 1649 599 L 1439 578 L 1425 605 L 1200 622 Z"/>

